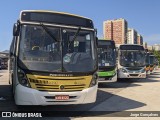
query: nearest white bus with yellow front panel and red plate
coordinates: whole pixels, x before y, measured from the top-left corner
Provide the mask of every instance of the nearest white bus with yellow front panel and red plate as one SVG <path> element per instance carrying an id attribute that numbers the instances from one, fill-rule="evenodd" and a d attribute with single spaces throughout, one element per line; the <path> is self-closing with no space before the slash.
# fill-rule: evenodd
<path id="1" fill-rule="evenodd" d="M 21 11 L 9 58 L 9 83 L 16 105 L 95 102 L 96 41 L 91 19 L 62 12 Z"/>

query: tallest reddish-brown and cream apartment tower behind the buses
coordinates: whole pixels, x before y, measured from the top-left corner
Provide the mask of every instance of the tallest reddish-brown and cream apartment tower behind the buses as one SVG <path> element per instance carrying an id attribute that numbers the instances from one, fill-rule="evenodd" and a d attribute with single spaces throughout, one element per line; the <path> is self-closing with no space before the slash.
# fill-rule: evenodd
<path id="1" fill-rule="evenodd" d="M 114 40 L 116 45 L 127 43 L 128 23 L 125 19 L 107 20 L 103 22 L 104 39 Z"/>

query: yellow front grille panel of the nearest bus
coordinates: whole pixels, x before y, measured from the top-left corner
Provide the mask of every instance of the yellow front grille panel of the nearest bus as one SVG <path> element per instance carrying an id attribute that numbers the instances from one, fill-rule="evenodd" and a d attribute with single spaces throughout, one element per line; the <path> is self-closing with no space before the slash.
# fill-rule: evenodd
<path id="1" fill-rule="evenodd" d="M 28 77 L 28 76 L 27 76 Z M 87 76 L 89 77 L 89 76 Z M 83 78 L 83 77 L 71 77 L 71 78 L 41 78 L 33 77 L 29 78 L 29 83 L 31 88 L 44 91 L 44 92 L 74 92 L 74 91 L 82 91 L 86 89 L 90 85 L 91 77 Z"/>

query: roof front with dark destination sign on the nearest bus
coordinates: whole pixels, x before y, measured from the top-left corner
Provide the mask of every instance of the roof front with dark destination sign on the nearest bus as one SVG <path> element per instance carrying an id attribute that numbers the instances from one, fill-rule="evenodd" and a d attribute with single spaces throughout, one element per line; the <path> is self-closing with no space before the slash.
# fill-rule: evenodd
<path id="1" fill-rule="evenodd" d="M 94 28 L 93 21 L 89 18 L 48 10 L 23 10 L 20 13 L 20 22 L 39 22 Z"/>

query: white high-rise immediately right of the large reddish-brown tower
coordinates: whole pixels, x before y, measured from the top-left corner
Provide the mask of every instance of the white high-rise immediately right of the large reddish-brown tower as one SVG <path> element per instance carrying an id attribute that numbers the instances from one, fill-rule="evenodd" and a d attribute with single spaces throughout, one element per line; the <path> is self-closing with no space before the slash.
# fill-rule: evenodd
<path id="1" fill-rule="evenodd" d="M 137 44 L 137 31 L 135 29 L 128 28 L 127 44 Z"/>

